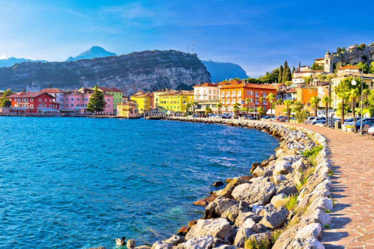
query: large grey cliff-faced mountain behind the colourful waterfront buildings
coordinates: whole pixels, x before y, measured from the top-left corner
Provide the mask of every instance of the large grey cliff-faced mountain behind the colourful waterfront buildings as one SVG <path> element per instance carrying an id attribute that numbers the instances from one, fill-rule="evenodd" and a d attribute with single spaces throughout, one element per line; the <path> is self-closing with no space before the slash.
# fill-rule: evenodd
<path id="1" fill-rule="evenodd" d="M 21 63 L 0 68 L 0 88 L 37 91 L 79 89 L 96 83 L 129 95 L 137 90 L 175 89 L 179 84 L 210 82 L 210 74 L 194 54 L 144 51 L 74 62 Z"/>

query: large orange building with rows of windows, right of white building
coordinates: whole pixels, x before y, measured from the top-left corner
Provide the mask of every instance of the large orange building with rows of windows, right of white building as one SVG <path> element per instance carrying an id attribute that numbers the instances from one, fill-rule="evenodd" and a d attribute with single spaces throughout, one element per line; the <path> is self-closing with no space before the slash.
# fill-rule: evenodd
<path id="1" fill-rule="evenodd" d="M 249 98 L 252 100 L 249 108 L 252 109 L 253 107 L 257 108 L 261 106 L 264 111 L 267 111 L 270 109 L 270 103 L 268 103 L 267 99 L 260 103 L 259 99 L 260 97 L 265 98 L 270 93 L 277 96 L 277 89 L 270 85 L 244 83 L 243 81 L 238 81 L 237 84 L 225 85 L 220 88 L 220 100 L 227 108 L 222 109 L 233 112 L 235 103 L 239 103 L 242 108 L 245 108 L 247 107 L 245 99 Z"/>

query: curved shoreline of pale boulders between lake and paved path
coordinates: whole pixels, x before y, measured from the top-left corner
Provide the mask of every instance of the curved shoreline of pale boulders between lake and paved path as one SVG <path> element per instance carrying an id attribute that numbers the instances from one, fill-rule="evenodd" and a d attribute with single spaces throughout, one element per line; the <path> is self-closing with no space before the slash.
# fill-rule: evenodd
<path id="1" fill-rule="evenodd" d="M 279 123 L 169 117 L 167 120 L 223 124 L 265 131 L 281 141 L 275 156 L 252 165 L 252 177 L 234 178 L 197 204 L 205 216 L 181 234 L 143 249 L 324 249 L 328 228 L 331 164 L 323 136 Z"/>

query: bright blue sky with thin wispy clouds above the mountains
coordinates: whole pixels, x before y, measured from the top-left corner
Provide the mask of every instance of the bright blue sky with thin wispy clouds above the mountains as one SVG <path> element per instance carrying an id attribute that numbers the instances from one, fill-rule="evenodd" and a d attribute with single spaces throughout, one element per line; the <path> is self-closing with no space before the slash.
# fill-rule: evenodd
<path id="1" fill-rule="evenodd" d="M 0 0 L 0 55 L 63 61 L 92 46 L 117 54 L 194 50 L 259 76 L 328 49 L 374 42 L 370 1 Z M 365 7 L 366 6 L 366 7 Z"/>

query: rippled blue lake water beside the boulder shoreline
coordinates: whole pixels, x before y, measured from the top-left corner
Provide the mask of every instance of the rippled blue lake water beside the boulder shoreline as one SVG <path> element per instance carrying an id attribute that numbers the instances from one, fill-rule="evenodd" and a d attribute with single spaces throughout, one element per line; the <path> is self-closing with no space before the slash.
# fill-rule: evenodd
<path id="1" fill-rule="evenodd" d="M 0 117 L 0 248 L 116 248 L 204 216 L 212 183 L 274 154 L 268 134 L 173 121 Z"/>

